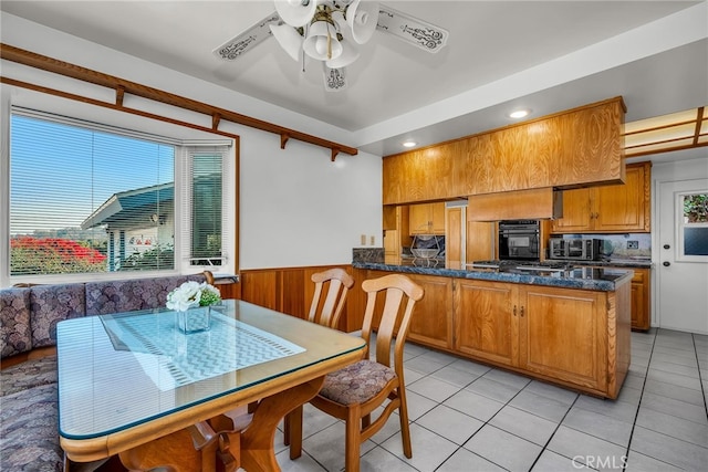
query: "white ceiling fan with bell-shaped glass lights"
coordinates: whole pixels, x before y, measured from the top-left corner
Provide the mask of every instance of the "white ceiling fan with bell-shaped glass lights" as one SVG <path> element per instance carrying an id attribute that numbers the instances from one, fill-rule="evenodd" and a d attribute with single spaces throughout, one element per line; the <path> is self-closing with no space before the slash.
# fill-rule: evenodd
<path id="1" fill-rule="evenodd" d="M 360 55 L 374 31 L 406 41 L 424 51 L 436 53 L 447 44 L 449 33 L 442 28 L 400 11 L 362 0 L 274 0 L 275 11 L 214 53 L 235 61 L 270 36 L 294 60 L 321 61 L 324 87 L 336 92 L 346 88 L 346 66 Z"/>

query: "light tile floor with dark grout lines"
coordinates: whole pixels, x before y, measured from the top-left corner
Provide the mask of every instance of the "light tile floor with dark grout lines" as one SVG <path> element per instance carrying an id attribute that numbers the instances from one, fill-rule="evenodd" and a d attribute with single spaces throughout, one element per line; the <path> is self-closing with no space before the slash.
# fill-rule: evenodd
<path id="1" fill-rule="evenodd" d="M 413 459 L 398 418 L 362 445 L 362 471 L 706 471 L 708 336 L 632 334 L 620 398 L 602 400 L 408 344 Z M 344 423 L 305 407 L 303 454 L 283 471 L 341 471 Z"/>

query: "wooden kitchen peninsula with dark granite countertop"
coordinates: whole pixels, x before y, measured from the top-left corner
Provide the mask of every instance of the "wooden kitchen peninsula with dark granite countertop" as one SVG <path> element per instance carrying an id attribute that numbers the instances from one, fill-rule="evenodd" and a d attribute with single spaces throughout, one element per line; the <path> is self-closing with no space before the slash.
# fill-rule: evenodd
<path id="1" fill-rule="evenodd" d="M 617 398 L 629 367 L 632 270 L 502 271 L 434 260 L 353 268 L 366 279 L 405 273 L 425 289 L 410 340 Z"/>

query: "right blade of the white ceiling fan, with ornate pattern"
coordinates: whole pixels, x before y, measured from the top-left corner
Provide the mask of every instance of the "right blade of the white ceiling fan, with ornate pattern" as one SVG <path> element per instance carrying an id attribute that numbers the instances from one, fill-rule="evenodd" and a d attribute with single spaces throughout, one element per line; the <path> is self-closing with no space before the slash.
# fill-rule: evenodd
<path id="1" fill-rule="evenodd" d="M 442 49 L 450 35 L 440 27 L 383 4 L 378 8 L 376 29 L 433 53 Z"/>

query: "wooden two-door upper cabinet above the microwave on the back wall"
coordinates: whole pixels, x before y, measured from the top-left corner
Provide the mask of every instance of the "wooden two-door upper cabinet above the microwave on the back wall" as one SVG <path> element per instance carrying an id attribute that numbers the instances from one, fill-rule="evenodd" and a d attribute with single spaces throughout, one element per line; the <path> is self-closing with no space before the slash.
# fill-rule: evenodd
<path id="1" fill-rule="evenodd" d="M 649 232 L 650 171 L 650 162 L 631 164 L 624 185 L 563 191 L 563 218 L 552 232 Z"/>

